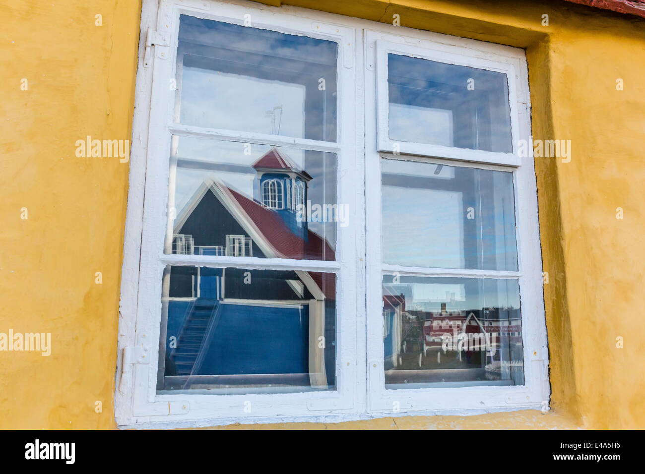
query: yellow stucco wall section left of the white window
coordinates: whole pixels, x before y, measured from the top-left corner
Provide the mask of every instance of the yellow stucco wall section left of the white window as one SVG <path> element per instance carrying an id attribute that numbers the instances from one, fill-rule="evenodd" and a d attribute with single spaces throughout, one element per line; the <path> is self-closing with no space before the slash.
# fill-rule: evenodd
<path id="1" fill-rule="evenodd" d="M 112 428 L 128 164 L 75 141 L 130 139 L 141 5 L 3 0 L 0 18 L 0 331 L 52 333 L 49 357 L 0 352 L 0 428 Z"/>

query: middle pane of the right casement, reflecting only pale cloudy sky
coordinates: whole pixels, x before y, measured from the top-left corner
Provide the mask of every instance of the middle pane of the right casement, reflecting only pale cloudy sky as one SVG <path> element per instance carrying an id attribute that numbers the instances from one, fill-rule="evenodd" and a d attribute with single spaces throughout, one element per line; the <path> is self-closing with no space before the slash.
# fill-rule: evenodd
<path id="1" fill-rule="evenodd" d="M 381 164 L 384 263 L 517 270 L 513 173 Z"/>

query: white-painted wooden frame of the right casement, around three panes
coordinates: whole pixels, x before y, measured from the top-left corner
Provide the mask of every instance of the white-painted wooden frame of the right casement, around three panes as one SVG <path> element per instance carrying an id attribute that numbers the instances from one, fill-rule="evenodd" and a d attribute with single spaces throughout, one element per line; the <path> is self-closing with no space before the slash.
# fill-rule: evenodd
<path id="1" fill-rule="evenodd" d="M 366 244 L 368 407 L 372 413 L 477 413 L 544 408 L 548 405 L 548 349 L 542 295 L 542 260 L 537 216 L 537 186 L 532 154 L 495 153 L 420 143 L 398 143 L 388 137 L 388 71 L 390 52 L 460 64 L 507 75 L 513 150 L 530 139 L 528 68 L 522 50 L 408 28 L 396 32 L 366 32 Z M 370 60 L 371 59 L 371 60 Z M 464 84 L 465 88 L 466 84 Z M 377 143 L 370 148 L 369 143 Z M 455 270 L 381 264 L 381 161 L 384 157 L 424 163 L 467 166 L 513 172 L 518 271 Z M 463 386 L 459 388 L 385 388 L 382 331 L 382 275 L 518 279 L 521 298 L 524 378 L 522 386 Z"/>

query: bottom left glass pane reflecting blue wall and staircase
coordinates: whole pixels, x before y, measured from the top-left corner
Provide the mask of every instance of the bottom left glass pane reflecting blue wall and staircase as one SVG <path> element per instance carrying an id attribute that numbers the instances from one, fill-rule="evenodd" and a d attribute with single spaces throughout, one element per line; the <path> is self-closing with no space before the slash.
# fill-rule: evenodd
<path id="1" fill-rule="evenodd" d="M 166 266 L 161 393 L 335 388 L 333 273 Z"/>

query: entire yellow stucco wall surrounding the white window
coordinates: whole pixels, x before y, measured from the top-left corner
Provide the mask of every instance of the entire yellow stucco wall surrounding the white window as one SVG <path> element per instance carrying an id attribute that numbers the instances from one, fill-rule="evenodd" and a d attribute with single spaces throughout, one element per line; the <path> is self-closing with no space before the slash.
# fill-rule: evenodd
<path id="1" fill-rule="evenodd" d="M 222 429 L 645 428 L 645 19 L 555 0 L 284 4 L 526 48 L 533 137 L 572 147 L 536 159 L 553 411 Z M 140 11 L 0 0 L 0 332 L 53 339 L 49 357 L 0 352 L 0 428 L 115 427 L 128 165 L 74 151 L 130 138 Z"/>

